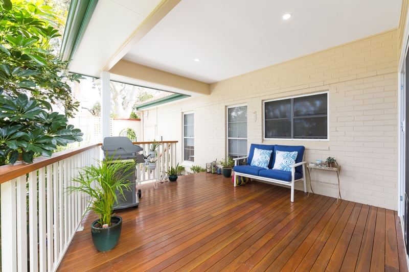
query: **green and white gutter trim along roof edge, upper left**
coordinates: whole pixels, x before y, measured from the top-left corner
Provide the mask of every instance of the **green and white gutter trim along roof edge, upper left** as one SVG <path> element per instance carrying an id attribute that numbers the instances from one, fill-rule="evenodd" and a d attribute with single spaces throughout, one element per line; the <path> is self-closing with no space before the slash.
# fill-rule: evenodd
<path id="1" fill-rule="evenodd" d="M 84 36 L 98 0 L 72 0 L 65 23 L 60 53 L 63 60 L 71 60 Z"/>

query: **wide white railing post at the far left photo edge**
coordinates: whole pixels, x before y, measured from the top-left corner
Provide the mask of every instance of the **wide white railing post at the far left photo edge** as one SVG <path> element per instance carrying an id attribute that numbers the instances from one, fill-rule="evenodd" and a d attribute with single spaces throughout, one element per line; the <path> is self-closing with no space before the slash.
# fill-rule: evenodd
<path id="1" fill-rule="evenodd" d="M 2 271 L 17 271 L 16 180 L 2 183 Z"/>

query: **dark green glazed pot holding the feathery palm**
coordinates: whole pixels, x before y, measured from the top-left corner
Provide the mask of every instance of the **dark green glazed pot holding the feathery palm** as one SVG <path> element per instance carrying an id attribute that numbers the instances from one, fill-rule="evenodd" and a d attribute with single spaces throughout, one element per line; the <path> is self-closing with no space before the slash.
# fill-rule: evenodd
<path id="1" fill-rule="evenodd" d="M 94 221 L 91 225 L 91 235 L 95 247 L 100 252 L 110 251 L 115 248 L 118 243 L 119 236 L 121 236 L 122 230 L 122 218 L 119 216 L 112 216 L 111 222 L 116 223 L 112 227 L 108 228 L 95 228 L 98 220 Z"/>

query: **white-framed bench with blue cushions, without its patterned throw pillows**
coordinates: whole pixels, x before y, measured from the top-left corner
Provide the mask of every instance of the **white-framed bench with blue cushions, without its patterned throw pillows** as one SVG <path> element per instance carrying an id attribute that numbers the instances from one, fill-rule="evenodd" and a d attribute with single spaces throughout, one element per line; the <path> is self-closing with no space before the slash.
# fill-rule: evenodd
<path id="1" fill-rule="evenodd" d="M 268 162 L 268 169 L 252 166 L 252 159 L 254 149 L 269 150 L 271 152 L 270 160 Z M 276 161 L 276 151 L 294 152 L 297 151 L 297 158 L 295 163 L 291 165 L 291 171 L 283 171 L 272 169 Z M 250 146 L 250 151 L 247 157 L 235 158 L 234 170 L 234 186 L 237 184 L 237 176 L 247 177 L 251 179 L 261 180 L 268 183 L 282 184 L 291 187 L 291 202 L 294 202 L 294 183 L 296 181 L 303 181 L 304 192 L 307 192 L 307 185 L 305 179 L 305 164 L 304 159 L 305 147 L 302 145 L 268 145 L 268 144 L 254 144 Z M 245 165 L 237 165 L 239 160 L 247 159 Z"/>

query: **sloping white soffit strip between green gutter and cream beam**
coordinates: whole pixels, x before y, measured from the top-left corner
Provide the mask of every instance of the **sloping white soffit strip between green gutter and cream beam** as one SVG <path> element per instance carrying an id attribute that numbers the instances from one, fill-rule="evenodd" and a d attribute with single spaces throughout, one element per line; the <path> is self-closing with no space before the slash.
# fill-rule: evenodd
<path id="1" fill-rule="evenodd" d="M 70 71 L 99 77 L 101 69 L 161 0 L 99 0 Z"/>

